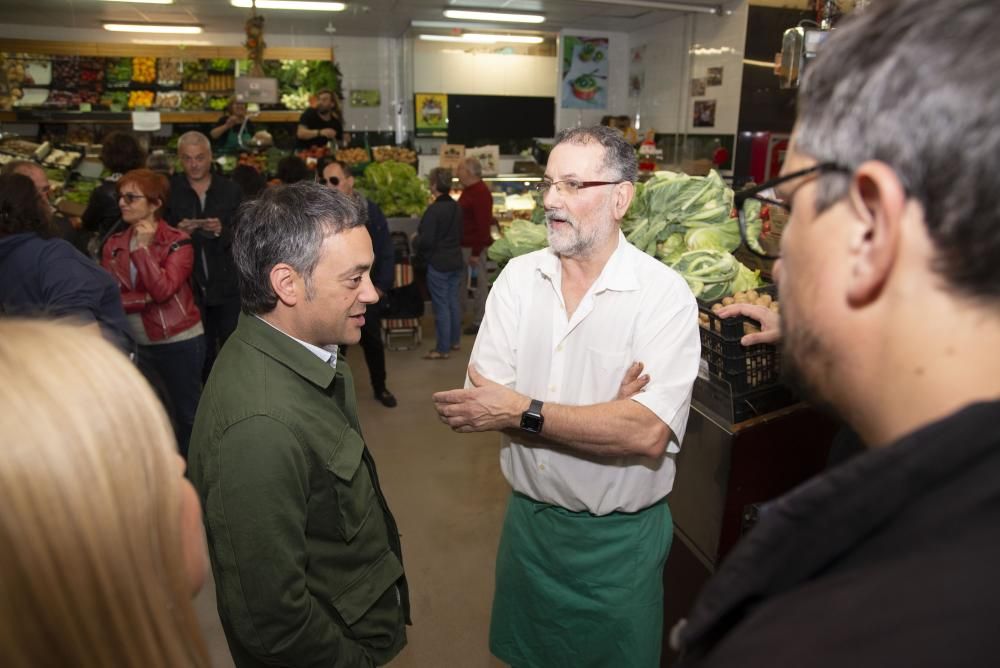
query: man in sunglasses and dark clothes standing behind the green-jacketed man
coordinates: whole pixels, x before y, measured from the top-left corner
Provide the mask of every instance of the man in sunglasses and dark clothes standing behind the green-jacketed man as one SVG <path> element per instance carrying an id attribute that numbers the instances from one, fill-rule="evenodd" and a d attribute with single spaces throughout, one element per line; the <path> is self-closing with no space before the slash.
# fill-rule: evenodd
<path id="1" fill-rule="evenodd" d="M 327 188 L 344 193 L 364 212 L 365 227 L 371 235 L 372 248 L 375 251 L 375 263 L 372 265 L 371 275 L 379 301 L 370 305 L 365 311 L 365 324 L 361 328 L 361 349 L 365 352 L 365 364 L 368 365 L 368 376 L 372 382 L 375 398 L 383 406 L 393 408 L 397 402 L 395 395 L 385 386 L 385 347 L 382 343 L 382 312 L 396 273 L 396 254 L 392 237 L 389 236 L 389 222 L 378 204 L 354 189 L 354 176 L 347 165 L 338 160 L 331 160 L 321 164 L 317 173 L 320 175 L 320 182 Z"/>

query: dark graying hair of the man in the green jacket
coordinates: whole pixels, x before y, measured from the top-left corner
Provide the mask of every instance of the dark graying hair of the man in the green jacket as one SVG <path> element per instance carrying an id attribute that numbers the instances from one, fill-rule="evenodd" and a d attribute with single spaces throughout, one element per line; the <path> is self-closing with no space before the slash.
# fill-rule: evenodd
<path id="1" fill-rule="evenodd" d="M 312 273 L 323 240 L 364 224 L 357 202 L 312 181 L 272 186 L 240 206 L 233 233 L 233 261 L 244 313 L 268 313 L 278 305 L 271 269 L 290 265 L 312 297 Z"/>

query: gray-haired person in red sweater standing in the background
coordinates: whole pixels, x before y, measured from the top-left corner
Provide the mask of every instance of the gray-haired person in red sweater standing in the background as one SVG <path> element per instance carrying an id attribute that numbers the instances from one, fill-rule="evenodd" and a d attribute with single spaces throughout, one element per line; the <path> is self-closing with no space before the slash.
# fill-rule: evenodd
<path id="1" fill-rule="evenodd" d="M 458 204 L 462 207 L 462 255 L 469 270 L 476 275 L 476 298 L 472 303 L 472 324 L 465 334 L 476 334 L 486 312 L 486 249 L 493 243 L 490 227 L 493 225 L 493 194 L 483 183 L 483 168 L 476 158 L 465 158 L 455 171 L 462 194 Z M 466 310 L 467 290 L 461 288 L 462 308 Z"/>

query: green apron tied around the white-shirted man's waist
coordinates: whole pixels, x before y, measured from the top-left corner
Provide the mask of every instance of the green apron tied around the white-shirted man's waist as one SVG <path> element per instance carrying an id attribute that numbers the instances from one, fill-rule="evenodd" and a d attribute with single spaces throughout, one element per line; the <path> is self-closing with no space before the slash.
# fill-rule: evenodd
<path id="1" fill-rule="evenodd" d="M 654 668 L 663 642 L 666 499 L 574 513 L 514 493 L 497 554 L 490 651 L 514 668 Z"/>

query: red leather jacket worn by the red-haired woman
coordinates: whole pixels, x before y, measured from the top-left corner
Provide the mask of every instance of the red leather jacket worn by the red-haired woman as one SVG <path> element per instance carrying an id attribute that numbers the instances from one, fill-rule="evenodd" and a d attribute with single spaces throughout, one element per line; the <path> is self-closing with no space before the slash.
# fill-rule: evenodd
<path id="1" fill-rule="evenodd" d="M 112 234 L 104 244 L 101 266 L 118 281 L 126 313 L 142 313 L 151 341 L 162 341 L 194 327 L 201 314 L 191 292 L 194 247 L 185 232 L 163 220 L 148 248 L 129 252 L 133 228 Z M 135 261 L 135 284 L 130 264 Z"/>

